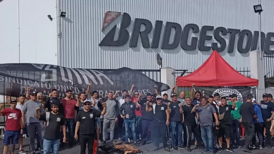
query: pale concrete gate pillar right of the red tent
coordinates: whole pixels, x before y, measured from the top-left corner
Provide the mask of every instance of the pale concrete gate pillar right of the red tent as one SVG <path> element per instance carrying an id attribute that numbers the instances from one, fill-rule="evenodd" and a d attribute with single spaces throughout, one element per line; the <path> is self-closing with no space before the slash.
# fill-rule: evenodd
<path id="1" fill-rule="evenodd" d="M 265 93 L 263 52 L 261 56 L 260 54 L 261 52 L 259 50 L 249 52 L 251 78 L 259 80 L 259 86 L 256 91 L 257 101 L 261 100 L 263 94 Z"/>

